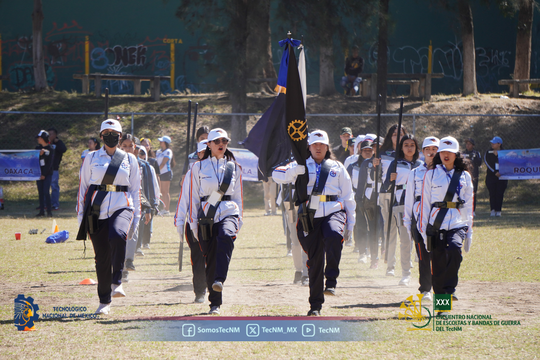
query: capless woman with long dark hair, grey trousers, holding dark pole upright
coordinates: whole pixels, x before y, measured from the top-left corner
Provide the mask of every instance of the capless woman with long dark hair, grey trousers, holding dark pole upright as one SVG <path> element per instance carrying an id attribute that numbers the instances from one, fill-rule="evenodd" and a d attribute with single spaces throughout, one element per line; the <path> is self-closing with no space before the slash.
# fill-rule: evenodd
<path id="1" fill-rule="evenodd" d="M 397 154 L 397 166 L 396 172 L 390 173 L 387 172 L 386 180 L 382 184 L 382 189 L 386 192 L 389 192 L 390 189 L 394 189 L 394 203 L 393 203 L 393 223 L 397 228 L 397 232 L 400 236 L 400 257 L 401 257 L 401 280 L 398 285 L 408 286 L 410 282 L 410 251 L 411 243 L 407 228 L 403 225 L 403 214 L 404 214 L 404 202 L 405 196 L 404 193 L 407 191 L 407 179 L 409 178 L 409 173 L 412 169 L 422 165 L 422 161 L 418 160 L 419 158 L 419 148 L 418 141 L 416 140 L 413 134 L 406 134 L 400 140 L 399 153 Z M 395 166 L 395 160 L 390 162 L 389 169 L 393 169 Z M 394 183 L 394 186 L 392 186 Z M 395 224 L 394 224 L 395 223 Z M 387 263 L 387 274 L 388 269 L 394 270 L 396 264 L 396 247 L 397 239 L 395 237 L 390 237 L 388 243 L 388 263 Z"/>

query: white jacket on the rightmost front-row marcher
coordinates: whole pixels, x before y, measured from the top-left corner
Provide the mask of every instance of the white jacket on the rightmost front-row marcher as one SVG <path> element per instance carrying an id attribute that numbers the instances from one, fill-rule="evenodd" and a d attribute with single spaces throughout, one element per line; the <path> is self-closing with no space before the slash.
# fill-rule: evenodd
<path id="1" fill-rule="evenodd" d="M 454 169 L 448 173 L 443 165 L 437 165 L 433 170 L 428 170 L 424 175 L 422 184 L 422 199 L 420 200 L 420 224 L 418 226 L 420 234 L 427 239 L 426 228 L 428 222 L 433 224 L 439 208 L 431 208 L 431 204 L 437 201 L 444 201 L 448 185 L 450 185 L 451 176 L 454 175 Z M 460 186 L 454 194 L 452 201 L 457 201 L 457 196 L 465 200 L 465 206 L 462 209 L 448 209 L 441 225 L 441 229 L 450 230 L 468 226 L 467 237 L 473 238 L 473 183 L 471 175 L 464 171 L 461 174 Z M 462 216 L 462 212 L 464 212 Z"/>

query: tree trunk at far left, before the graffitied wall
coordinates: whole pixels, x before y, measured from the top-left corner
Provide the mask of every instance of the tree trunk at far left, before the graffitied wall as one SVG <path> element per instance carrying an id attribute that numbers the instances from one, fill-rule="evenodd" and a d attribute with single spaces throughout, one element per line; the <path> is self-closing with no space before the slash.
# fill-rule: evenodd
<path id="1" fill-rule="evenodd" d="M 45 61 L 43 59 L 43 6 L 41 0 L 34 0 L 32 12 L 32 60 L 34 89 L 37 91 L 47 88 L 45 76 Z"/>

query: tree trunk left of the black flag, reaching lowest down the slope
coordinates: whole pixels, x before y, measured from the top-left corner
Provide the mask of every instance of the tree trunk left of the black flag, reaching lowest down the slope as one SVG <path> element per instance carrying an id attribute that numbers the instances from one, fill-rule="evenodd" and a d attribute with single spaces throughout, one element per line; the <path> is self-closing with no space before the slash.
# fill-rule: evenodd
<path id="1" fill-rule="evenodd" d="M 234 0 L 235 14 L 231 24 L 234 26 L 234 54 L 236 62 L 233 64 L 233 77 L 231 79 L 230 99 L 233 113 L 246 112 L 246 84 L 247 84 L 247 22 L 248 0 Z M 247 116 L 234 115 L 231 117 L 231 147 L 238 147 L 238 141 L 247 137 Z"/>

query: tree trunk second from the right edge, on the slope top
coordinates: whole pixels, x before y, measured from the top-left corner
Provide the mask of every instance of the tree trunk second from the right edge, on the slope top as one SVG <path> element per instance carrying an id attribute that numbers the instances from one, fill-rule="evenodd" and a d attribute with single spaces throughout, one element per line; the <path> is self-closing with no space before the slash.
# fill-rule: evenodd
<path id="1" fill-rule="evenodd" d="M 457 6 L 461 25 L 461 42 L 463 44 L 463 96 L 467 96 L 478 94 L 476 90 L 473 11 L 471 11 L 468 0 L 459 0 Z"/>

